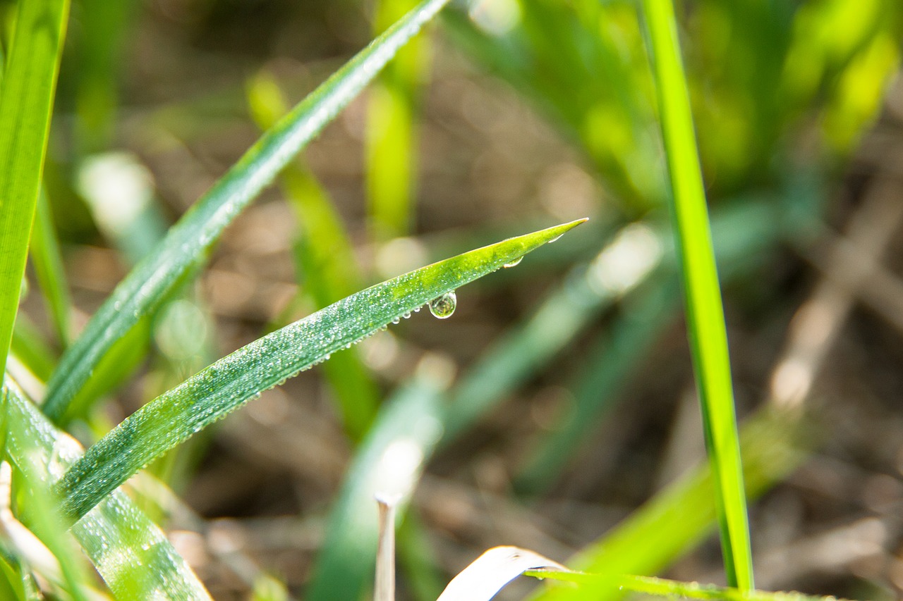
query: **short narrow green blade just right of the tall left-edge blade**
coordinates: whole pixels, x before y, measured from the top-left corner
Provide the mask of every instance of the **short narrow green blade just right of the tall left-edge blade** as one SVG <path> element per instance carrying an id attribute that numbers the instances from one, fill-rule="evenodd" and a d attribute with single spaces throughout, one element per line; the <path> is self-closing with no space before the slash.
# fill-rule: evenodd
<path id="1" fill-rule="evenodd" d="M 38 206 L 34 217 L 31 244 L 34 273 L 38 277 L 44 301 L 56 329 L 60 346 L 69 345 L 69 310 L 72 301 L 69 296 L 69 285 L 66 273 L 62 268 L 60 242 L 53 227 L 50 203 L 42 191 L 38 197 Z"/>

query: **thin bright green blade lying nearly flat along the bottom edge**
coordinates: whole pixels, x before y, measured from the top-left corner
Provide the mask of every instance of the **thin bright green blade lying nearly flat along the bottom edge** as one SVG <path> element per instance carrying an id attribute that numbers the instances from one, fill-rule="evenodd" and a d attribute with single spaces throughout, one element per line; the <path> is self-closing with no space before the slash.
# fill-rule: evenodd
<path id="1" fill-rule="evenodd" d="M 812 596 L 802 593 L 772 593 L 764 590 L 740 590 L 738 588 L 718 587 L 698 582 L 680 582 L 666 578 L 648 576 L 608 576 L 604 574 L 587 574 L 586 572 L 551 571 L 548 569 L 527 570 L 526 576 L 548 578 L 577 585 L 592 583 L 604 584 L 610 590 L 630 591 L 642 595 L 665 596 L 669 599 L 677 597 L 685 599 L 723 599 L 723 601 L 842 601 L 835 596 Z"/>

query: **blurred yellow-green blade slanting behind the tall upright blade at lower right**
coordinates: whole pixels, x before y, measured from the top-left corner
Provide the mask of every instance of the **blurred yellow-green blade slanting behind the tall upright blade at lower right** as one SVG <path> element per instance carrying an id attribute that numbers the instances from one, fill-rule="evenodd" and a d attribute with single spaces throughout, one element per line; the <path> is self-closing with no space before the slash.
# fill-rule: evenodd
<path id="1" fill-rule="evenodd" d="M 792 472 L 807 455 L 814 436 L 805 418 L 786 411 L 759 411 L 743 425 L 743 475 L 756 498 Z M 691 550 L 712 532 L 717 519 L 712 471 L 706 464 L 668 485 L 598 541 L 567 561 L 572 569 L 601 574 L 652 575 Z M 584 585 L 580 590 L 545 587 L 533 601 L 619 599 L 623 592 Z"/>

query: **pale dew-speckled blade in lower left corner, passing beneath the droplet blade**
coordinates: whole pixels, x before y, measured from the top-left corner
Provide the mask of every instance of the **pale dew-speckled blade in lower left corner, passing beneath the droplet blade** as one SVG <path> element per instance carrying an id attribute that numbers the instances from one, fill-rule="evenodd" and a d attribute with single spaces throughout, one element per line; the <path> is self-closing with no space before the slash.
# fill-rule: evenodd
<path id="1" fill-rule="evenodd" d="M 56 430 L 8 379 L 4 409 L 8 458 L 17 466 L 36 459 L 52 485 L 79 458 L 79 443 Z M 118 599 L 209 600 L 163 532 L 121 491 L 107 496 L 71 532 Z"/>

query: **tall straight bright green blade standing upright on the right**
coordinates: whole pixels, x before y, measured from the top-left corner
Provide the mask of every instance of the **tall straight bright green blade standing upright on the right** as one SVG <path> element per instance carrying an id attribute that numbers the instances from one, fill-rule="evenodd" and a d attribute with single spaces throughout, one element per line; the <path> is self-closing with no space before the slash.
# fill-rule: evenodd
<path id="1" fill-rule="evenodd" d="M 644 0 L 671 177 L 675 238 L 684 280 L 690 348 L 719 508 L 721 551 L 731 587 L 753 588 L 749 521 L 731 385 L 731 361 L 703 174 L 671 0 Z"/>

